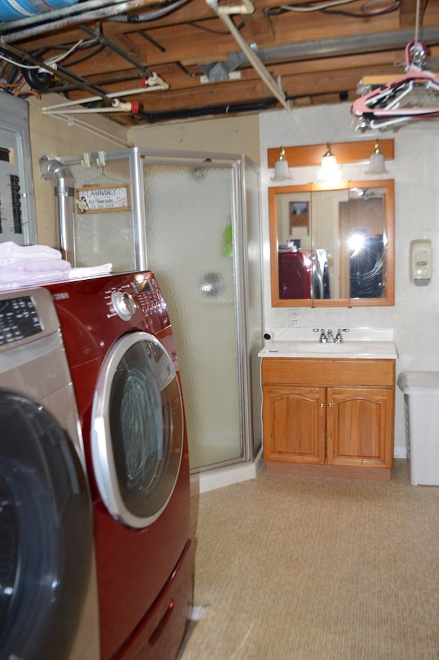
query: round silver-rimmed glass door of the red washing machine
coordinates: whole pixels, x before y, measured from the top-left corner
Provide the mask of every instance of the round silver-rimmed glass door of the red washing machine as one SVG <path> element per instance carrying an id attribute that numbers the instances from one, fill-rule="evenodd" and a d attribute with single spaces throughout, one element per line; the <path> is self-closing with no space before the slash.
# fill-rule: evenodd
<path id="1" fill-rule="evenodd" d="M 93 471 L 110 514 L 145 528 L 165 510 L 183 449 L 183 406 L 171 357 L 147 332 L 112 346 L 93 401 Z"/>

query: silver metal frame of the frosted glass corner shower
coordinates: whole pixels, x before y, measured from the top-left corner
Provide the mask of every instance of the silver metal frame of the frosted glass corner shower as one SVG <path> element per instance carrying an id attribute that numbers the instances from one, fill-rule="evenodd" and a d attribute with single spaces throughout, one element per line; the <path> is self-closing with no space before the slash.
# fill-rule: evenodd
<path id="1" fill-rule="evenodd" d="M 133 271 L 148 270 L 147 259 L 147 239 L 146 224 L 143 219 L 146 217 L 145 209 L 145 182 L 143 179 L 143 164 L 147 165 L 202 165 L 202 167 L 229 167 L 233 170 L 233 208 L 235 217 L 233 222 L 233 245 L 237 246 L 233 250 L 233 268 L 235 272 L 235 303 L 237 314 L 237 342 L 238 342 L 238 384 L 239 384 L 239 427 L 241 432 L 241 456 L 237 459 L 224 460 L 219 463 L 209 464 L 207 467 L 191 469 L 192 473 L 225 467 L 231 464 L 240 464 L 252 461 L 257 458 L 261 449 L 262 431 L 254 428 L 253 410 L 253 392 L 252 384 L 254 379 L 259 379 L 259 373 L 252 373 L 252 351 L 249 342 L 249 308 L 248 308 L 248 254 L 246 247 L 248 245 L 247 207 L 246 207 L 246 172 L 248 169 L 257 174 L 259 178 L 259 166 L 248 158 L 245 154 L 231 154 L 218 152 L 191 152 L 144 149 L 132 147 L 121 150 L 110 150 L 107 152 L 91 152 L 88 154 L 89 162 L 120 160 L 127 158 L 130 165 L 131 179 L 131 204 L 132 204 L 132 231 L 134 264 Z M 78 165 L 82 163 L 84 154 L 76 156 L 58 156 L 57 160 L 64 165 Z M 258 225 L 259 225 L 259 287 L 261 292 L 260 318 L 263 322 L 263 259 L 262 259 L 262 228 L 261 228 L 261 193 L 258 181 Z M 74 223 L 74 218 L 71 218 Z M 68 232 L 69 237 L 74 237 L 74 231 Z M 73 238 L 74 240 L 74 238 Z M 66 244 L 61 246 L 69 254 L 74 254 L 74 245 Z M 75 266 L 76 264 L 72 264 Z M 263 344 L 263 329 L 261 327 L 260 346 Z M 184 392 L 183 392 L 184 394 Z M 260 440 L 254 443 L 254 433 L 258 433 Z"/>

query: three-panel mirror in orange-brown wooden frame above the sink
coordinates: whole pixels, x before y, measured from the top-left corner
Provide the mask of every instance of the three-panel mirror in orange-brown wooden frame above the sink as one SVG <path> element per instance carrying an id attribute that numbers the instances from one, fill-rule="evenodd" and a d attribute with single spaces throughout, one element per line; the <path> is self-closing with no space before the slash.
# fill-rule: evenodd
<path id="1" fill-rule="evenodd" d="M 394 305 L 394 182 L 270 187 L 273 307 Z"/>

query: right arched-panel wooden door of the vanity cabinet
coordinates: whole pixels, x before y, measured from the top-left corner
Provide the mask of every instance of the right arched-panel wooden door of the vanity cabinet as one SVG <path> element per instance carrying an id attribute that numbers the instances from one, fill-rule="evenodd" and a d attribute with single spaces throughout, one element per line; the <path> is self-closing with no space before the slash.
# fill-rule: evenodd
<path id="1" fill-rule="evenodd" d="M 394 390 L 328 388 L 327 462 L 392 467 Z"/>

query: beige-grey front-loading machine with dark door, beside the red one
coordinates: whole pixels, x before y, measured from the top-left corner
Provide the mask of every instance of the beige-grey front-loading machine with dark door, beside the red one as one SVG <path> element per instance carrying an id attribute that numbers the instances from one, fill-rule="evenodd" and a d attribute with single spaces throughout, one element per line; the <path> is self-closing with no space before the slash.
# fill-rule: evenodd
<path id="1" fill-rule="evenodd" d="M 97 660 L 91 499 L 43 288 L 0 294 L 0 660 Z"/>

